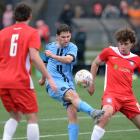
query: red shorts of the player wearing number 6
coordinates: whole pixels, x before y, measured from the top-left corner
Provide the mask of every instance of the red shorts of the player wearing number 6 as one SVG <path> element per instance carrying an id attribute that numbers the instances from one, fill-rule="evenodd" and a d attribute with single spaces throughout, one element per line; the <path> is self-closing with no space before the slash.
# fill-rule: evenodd
<path id="1" fill-rule="evenodd" d="M 38 112 L 36 94 L 32 89 L 0 89 L 0 97 L 8 112 Z"/>

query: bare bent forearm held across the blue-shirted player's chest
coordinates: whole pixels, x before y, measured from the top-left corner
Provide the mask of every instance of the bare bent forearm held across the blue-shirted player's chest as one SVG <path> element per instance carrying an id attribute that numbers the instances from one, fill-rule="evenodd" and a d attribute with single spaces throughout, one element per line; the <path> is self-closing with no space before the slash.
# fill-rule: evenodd
<path id="1" fill-rule="evenodd" d="M 59 55 L 53 54 L 50 50 L 46 50 L 45 54 L 46 56 L 56 59 L 57 61 L 60 61 L 62 63 L 71 63 L 74 59 L 72 55 L 59 56 Z"/>

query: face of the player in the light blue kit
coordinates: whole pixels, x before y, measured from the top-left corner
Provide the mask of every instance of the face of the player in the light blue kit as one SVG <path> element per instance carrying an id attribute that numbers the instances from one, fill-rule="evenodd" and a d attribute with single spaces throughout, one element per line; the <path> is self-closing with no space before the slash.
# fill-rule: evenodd
<path id="1" fill-rule="evenodd" d="M 61 32 L 60 35 L 57 35 L 57 41 L 60 46 L 64 47 L 70 42 L 71 33 L 70 32 Z"/>

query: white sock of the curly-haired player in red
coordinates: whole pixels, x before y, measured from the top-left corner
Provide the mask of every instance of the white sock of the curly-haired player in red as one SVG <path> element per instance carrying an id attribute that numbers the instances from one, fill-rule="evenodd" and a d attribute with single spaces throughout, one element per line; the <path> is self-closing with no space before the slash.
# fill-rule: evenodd
<path id="1" fill-rule="evenodd" d="M 98 125 L 95 125 L 91 135 L 91 140 L 100 140 L 103 137 L 104 133 L 105 130 L 103 128 L 101 128 Z"/>

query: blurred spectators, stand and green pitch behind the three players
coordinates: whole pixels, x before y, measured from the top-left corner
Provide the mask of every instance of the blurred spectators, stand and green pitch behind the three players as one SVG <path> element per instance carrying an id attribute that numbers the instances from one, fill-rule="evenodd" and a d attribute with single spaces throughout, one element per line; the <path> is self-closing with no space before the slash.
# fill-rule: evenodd
<path id="1" fill-rule="evenodd" d="M 74 67 L 90 69 L 92 60 L 108 45 L 115 45 L 114 32 L 122 27 L 131 27 L 135 30 L 138 42 L 132 52 L 140 55 L 140 0 L 0 0 L 0 30 L 13 24 L 13 9 L 18 2 L 26 2 L 33 9 L 31 25 L 38 30 L 42 41 L 41 51 L 47 43 L 54 41 L 56 27 L 60 23 L 67 23 L 72 27 L 72 41 L 78 46 L 78 60 Z M 39 125 L 41 140 L 66 140 L 67 119 L 62 106 L 54 102 L 47 95 L 45 88 L 38 85 L 38 72 L 34 71 L 35 83 L 39 101 Z M 96 78 L 96 93 L 93 97 L 87 94 L 86 89 L 77 87 L 81 98 L 100 108 L 103 93 L 104 65 L 99 69 Z M 101 75 L 101 76 L 100 76 Z M 37 77 L 36 77 L 37 76 Z M 137 79 L 137 80 L 135 80 Z M 140 79 L 134 75 L 133 89 L 140 101 Z M 8 119 L 6 111 L 0 102 L 0 140 L 3 126 Z M 25 140 L 26 121 L 19 125 L 15 140 Z M 90 139 L 93 128 L 92 120 L 79 113 L 80 134 L 79 140 Z M 55 128 L 55 131 L 54 131 Z M 109 123 L 103 140 L 138 140 L 137 130 L 122 114 L 117 114 Z"/>

